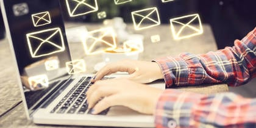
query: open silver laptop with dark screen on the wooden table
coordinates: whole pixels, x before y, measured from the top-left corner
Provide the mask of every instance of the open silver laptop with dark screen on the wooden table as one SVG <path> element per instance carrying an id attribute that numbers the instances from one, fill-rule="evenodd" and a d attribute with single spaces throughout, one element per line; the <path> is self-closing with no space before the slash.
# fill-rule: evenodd
<path id="1" fill-rule="evenodd" d="M 71 60 L 59 1 L 1 0 L 1 10 L 28 119 L 35 124 L 154 127 L 154 116 L 122 106 L 90 114 L 85 93 L 93 75 L 68 68 L 78 63 L 83 69 L 84 64 Z"/>

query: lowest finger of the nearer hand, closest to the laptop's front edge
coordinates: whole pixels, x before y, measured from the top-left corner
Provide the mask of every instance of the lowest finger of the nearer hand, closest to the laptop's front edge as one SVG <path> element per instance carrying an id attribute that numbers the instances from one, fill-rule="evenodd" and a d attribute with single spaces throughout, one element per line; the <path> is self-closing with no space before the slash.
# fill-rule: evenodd
<path id="1" fill-rule="evenodd" d="M 93 107 L 91 113 L 95 115 L 114 105 L 121 105 L 119 99 L 119 96 L 115 94 L 112 96 L 105 97 Z"/>

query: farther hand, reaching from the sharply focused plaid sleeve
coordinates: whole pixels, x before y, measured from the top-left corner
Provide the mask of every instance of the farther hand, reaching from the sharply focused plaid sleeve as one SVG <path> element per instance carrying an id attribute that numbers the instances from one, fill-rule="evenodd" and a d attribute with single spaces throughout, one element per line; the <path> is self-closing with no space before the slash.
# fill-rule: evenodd
<path id="1" fill-rule="evenodd" d="M 116 73 L 118 71 L 127 72 L 130 75 L 127 79 L 146 84 L 157 79 L 163 79 L 163 74 L 155 62 L 142 62 L 137 60 L 121 60 L 115 63 L 109 63 L 98 71 L 96 77 L 91 82 L 101 80 L 104 76 Z"/>

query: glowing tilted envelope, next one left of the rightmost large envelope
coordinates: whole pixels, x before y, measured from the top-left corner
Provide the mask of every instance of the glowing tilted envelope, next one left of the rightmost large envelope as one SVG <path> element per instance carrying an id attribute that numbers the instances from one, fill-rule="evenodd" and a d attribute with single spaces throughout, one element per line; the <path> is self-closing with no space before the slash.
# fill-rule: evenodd
<path id="1" fill-rule="evenodd" d="M 132 12 L 132 21 L 135 30 L 148 29 L 161 24 L 156 7 Z"/>

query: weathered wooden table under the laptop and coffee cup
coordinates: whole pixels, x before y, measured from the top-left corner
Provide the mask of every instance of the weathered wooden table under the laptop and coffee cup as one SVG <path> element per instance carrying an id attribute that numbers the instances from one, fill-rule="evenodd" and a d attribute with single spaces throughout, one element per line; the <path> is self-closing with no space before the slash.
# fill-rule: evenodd
<path id="1" fill-rule="evenodd" d="M 66 27 L 74 27 L 85 24 L 68 23 Z M 85 25 L 88 30 L 98 29 L 99 25 Z M 133 31 L 129 25 L 128 30 Z M 151 61 L 157 57 L 165 57 L 166 55 L 178 55 L 181 52 L 190 52 L 193 54 L 202 54 L 217 49 L 215 39 L 210 26 L 204 25 L 204 34 L 174 41 L 171 37 L 171 31 L 168 25 L 153 27 L 150 30 L 141 30 L 136 34 L 144 35 L 144 52 L 140 54 L 140 60 Z M 160 35 L 161 41 L 151 43 L 152 35 Z M 81 49 L 81 43 L 70 43 L 70 49 L 73 59 L 85 59 L 87 63 L 87 72 L 95 73 L 93 66 L 102 61 L 101 55 L 87 56 L 84 49 Z M 0 43 L 0 127 L 70 127 L 70 126 L 49 126 L 35 125 L 32 121 L 26 119 L 23 104 L 21 102 L 20 88 L 18 88 L 16 77 L 14 74 L 14 60 L 10 55 L 9 44 L 7 39 L 1 40 Z M 90 63 L 90 65 L 88 65 Z M 197 93 L 219 93 L 228 91 L 226 84 L 214 85 L 210 87 L 200 86 L 197 88 L 182 88 L 182 90 L 195 91 Z M 76 126 L 77 127 L 77 126 Z"/>

